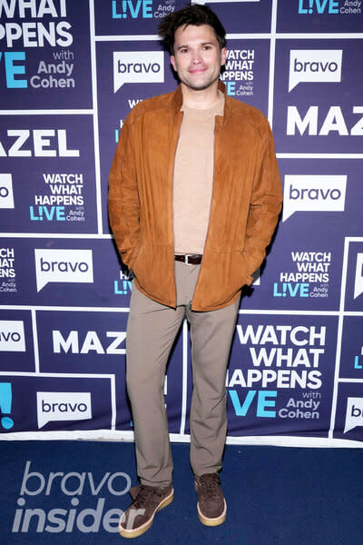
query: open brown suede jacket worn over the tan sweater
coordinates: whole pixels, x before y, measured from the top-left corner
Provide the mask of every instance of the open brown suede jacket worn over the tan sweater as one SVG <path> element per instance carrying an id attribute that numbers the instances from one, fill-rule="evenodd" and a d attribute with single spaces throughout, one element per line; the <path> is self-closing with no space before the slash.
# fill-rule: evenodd
<path id="1" fill-rule="evenodd" d="M 225 93 L 225 86 L 219 83 Z M 172 184 L 182 124 L 182 89 L 137 104 L 113 158 L 109 215 L 137 287 L 175 307 Z M 227 306 L 252 282 L 278 222 L 281 185 L 270 125 L 259 110 L 225 95 L 216 117 L 211 215 L 194 311 Z"/>

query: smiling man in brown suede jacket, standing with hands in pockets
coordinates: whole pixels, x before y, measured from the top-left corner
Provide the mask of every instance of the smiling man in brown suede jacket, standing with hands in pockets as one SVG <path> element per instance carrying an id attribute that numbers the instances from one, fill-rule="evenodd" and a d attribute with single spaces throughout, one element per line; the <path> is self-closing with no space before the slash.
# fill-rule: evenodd
<path id="1" fill-rule="evenodd" d="M 127 389 L 141 485 L 121 535 L 133 538 L 172 501 L 165 367 L 184 316 L 191 323 L 191 468 L 201 522 L 226 518 L 221 491 L 225 374 L 240 303 L 280 213 L 270 126 L 219 80 L 225 31 L 207 6 L 188 5 L 159 27 L 178 89 L 137 104 L 110 173 L 110 221 L 134 273 L 127 326 Z"/>

